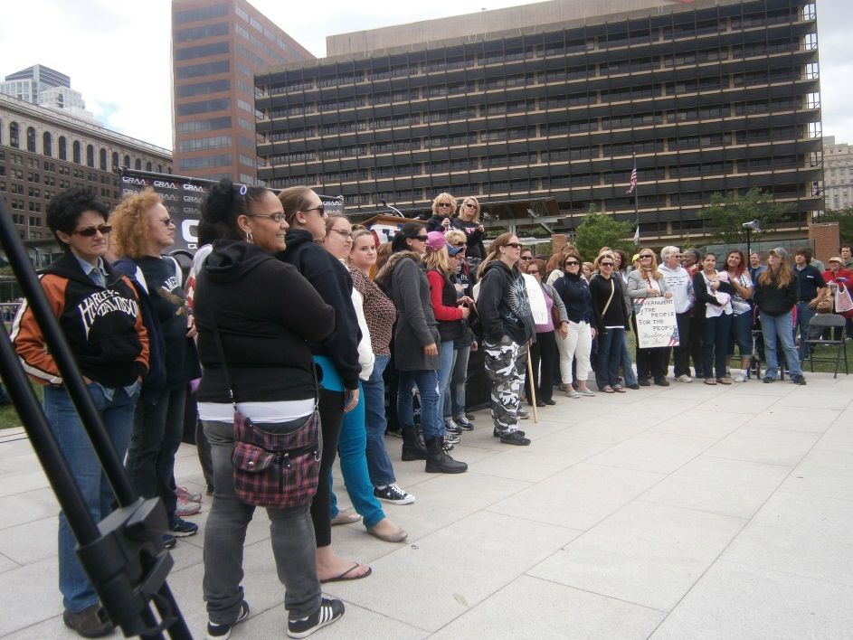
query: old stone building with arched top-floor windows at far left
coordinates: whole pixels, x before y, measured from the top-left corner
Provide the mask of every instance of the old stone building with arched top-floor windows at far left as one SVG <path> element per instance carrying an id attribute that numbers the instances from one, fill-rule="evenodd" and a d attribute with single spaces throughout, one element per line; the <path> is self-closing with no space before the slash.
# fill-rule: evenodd
<path id="1" fill-rule="evenodd" d="M 110 207 L 119 166 L 172 173 L 172 152 L 0 94 L 0 194 L 24 240 L 50 240 L 44 214 L 56 193 L 81 185 Z"/>

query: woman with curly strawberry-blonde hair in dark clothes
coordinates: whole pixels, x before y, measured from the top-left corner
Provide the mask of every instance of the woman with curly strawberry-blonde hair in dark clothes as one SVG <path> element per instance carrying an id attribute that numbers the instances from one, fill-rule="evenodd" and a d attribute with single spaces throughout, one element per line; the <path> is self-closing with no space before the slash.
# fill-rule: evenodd
<path id="1" fill-rule="evenodd" d="M 166 544 L 198 532 L 198 525 L 177 516 L 172 475 L 175 453 L 184 437 L 187 383 L 201 377 L 193 341 L 195 326 L 182 287 L 181 268 L 161 252 L 175 243 L 175 222 L 152 189 L 128 196 L 112 215 L 110 245 L 114 267 L 137 283 L 147 304 L 146 326 L 152 344 L 152 371 L 163 367 L 155 385 L 148 380 L 134 413 L 128 447 L 128 475 L 144 498 L 159 497 L 166 506 Z M 155 358 L 156 354 L 156 358 Z"/>

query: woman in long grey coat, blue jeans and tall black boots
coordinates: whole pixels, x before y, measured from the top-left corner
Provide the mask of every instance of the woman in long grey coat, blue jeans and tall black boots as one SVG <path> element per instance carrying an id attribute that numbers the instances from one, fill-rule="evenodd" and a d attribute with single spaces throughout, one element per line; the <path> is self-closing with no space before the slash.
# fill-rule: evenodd
<path id="1" fill-rule="evenodd" d="M 434 474 L 460 474 L 468 465 L 444 450 L 444 422 L 439 407 L 441 337 L 430 302 L 430 282 L 423 272 L 427 231 L 422 224 L 406 222 L 392 240 L 391 258 L 376 274 L 376 284 L 397 307 L 393 334 L 393 361 L 398 373 L 397 419 L 403 431 L 403 460 L 426 459 L 424 470 Z M 412 389 L 421 396 L 421 428 L 426 447 L 414 428 Z"/>

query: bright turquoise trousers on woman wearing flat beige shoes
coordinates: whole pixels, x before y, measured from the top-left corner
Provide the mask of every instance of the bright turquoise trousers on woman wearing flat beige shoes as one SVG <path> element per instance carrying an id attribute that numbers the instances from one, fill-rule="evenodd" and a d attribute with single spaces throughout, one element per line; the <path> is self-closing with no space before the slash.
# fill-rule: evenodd
<path id="1" fill-rule="evenodd" d="M 372 527 L 385 514 L 379 501 L 374 498 L 374 485 L 370 482 L 367 472 L 367 429 L 365 428 L 365 393 L 358 383 L 358 404 L 355 409 L 344 414 L 341 424 L 341 435 L 337 440 L 337 456 L 341 461 L 341 475 L 344 476 L 346 493 L 352 501 L 355 511 L 365 522 L 365 527 Z M 332 484 L 332 470 L 328 470 L 329 486 Z M 337 515 L 337 498 L 331 492 L 330 514 Z"/>

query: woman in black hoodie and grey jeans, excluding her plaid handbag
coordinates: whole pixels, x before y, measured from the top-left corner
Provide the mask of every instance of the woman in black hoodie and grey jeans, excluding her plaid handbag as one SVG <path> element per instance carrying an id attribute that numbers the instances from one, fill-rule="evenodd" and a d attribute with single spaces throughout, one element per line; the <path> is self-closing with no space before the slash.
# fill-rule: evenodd
<path id="1" fill-rule="evenodd" d="M 199 226 L 200 234 L 220 239 L 198 274 L 194 294 L 204 365 L 198 412 L 211 444 L 216 486 L 204 532 L 203 588 L 208 637 L 227 637 L 249 616 L 240 583 L 246 528 L 255 510 L 234 491 L 229 387 L 238 409 L 258 428 L 285 433 L 314 419 L 314 363 L 307 341 L 331 333 L 335 311 L 297 269 L 272 256 L 285 248 L 288 225 L 268 189 L 223 180 L 204 203 Z M 308 504 L 267 509 L 267 515 L 276 569 L 287 588 L 289 634 L 308 635 L 342 616 L 344 605 L 322 597 Z"/>

